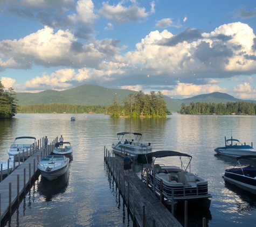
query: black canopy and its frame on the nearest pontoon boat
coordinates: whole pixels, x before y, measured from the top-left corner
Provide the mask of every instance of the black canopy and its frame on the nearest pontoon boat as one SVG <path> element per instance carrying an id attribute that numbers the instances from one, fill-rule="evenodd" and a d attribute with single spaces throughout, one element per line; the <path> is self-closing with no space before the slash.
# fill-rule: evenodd
<path id="1" fill-rule="evenodd" d="M 155 151 L 155 152 L 151 152 L 151 153 L 146 154 L 147 162 L 148 162 L 148 157 L 153 158 L 153 163 L 150 167 L 150 171 L 152 171 L 153 166 L 155 164 L 155 160 L 157 158 L 179 157 L 179 160 L 181 161 L 181 165 L 184 168 L 184 170 L 186 171 L 189 167 L 189 172 L 190 172 L 190 163 L 191 163 L 192 156 L 189 155 L 189 154 L 185 154 L 185 153 L 181 153 L 181 152 L 177 152 L 177 151 Z M 188 165 L 186 165 L 186 167 L 183 164 L 182 157 L 188 157 L 189 158 L 189 163 L 188 163 Z"/>

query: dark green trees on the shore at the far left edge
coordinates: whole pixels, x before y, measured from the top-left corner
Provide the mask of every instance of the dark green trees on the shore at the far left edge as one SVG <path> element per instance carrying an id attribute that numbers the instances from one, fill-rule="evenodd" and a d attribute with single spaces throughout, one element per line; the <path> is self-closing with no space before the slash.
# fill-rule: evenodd
<path id="1" fill-rule="evenodd" d="M 13 88 L 4 90 L 4 86 L 0 81 L 0 118 L 11 118 L 17 112 L 17 98 Z"/>

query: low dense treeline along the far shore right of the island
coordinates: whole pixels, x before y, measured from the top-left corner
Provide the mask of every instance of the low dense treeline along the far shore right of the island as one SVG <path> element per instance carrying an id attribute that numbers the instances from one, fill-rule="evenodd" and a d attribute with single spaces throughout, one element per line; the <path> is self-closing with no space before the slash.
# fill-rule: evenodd
<path id="1" fill-rule="evenodd" d="M 216 114 L 216 115 L 255 115 L 256 104 L 253 102 L 227 102 L 223 103 L 193 103 L 186 106 L 182 103 L 181 114 Z"/>

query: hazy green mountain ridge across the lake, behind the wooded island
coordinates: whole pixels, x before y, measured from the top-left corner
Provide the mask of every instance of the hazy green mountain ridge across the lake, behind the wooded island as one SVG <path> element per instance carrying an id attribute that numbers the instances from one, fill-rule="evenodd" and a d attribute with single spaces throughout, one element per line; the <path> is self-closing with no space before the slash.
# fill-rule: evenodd
<path id="1" fill-rule="evenodd" d="M 110 105 L 113 103 L 113 98 L 116 95 L 117 101 L 122 104 L 125 96 L 136 94 L 137 91 L 127 89 L 110 89 L 98 85 L 84 84 L 76 88 L 71 88 L 63 91 L 45 90 L 39 93 L 17 93 L 18 105 L 40 104 L 40 103 L 67 103 L 81 105 Z M 191 98 L 178 100 L 164 96 L 164 101 L 167 108 L 171 112 L 176 112 L 181 109 L 181 104 L 189 105 L 191 102 L 207 102 L 207 103 L 227 103 L 243 101 L 234 98 L 225 93 L 211 93 L 206 95 L 197 95 Z M 246 101 L 254 102 L 256 101 Z"/>

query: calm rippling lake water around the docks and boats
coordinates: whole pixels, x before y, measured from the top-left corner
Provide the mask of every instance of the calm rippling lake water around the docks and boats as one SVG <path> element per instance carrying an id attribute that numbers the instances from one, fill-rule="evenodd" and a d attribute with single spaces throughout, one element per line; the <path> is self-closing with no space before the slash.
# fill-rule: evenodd
<path id="1" fill-rule="evenodd" d="M 70 118 L 76 117 L 75 122 Z M 0 119 L 0 161 L 19 136 L 44 136 L 52 141 L 63 135 L 73 146 L 68 173 L 58 182 L 39 179 L 3 226 L 133 226 L 122 197 L 108 180 L 104 146 L 111 150 L 117 132 L 140 132 L 154 151 L 190 154 L 191 172 L 208 180 L 210 210 L 189 213 L 189 226 L 246 226 L 256 223 L 256 196 L 225 185 L 222 173 L 233 158 L 216 157 L 224 137 L 256 146 L 256 116 L 174 115 L 167 119 L 113 119 L 102 114 L 17 114 Z M 132 138 L 127 138 L 132 139 Z M 179 164 L 179 163 L 177 163 Z M 140 169 L 140 168 L 138 168 Z M 184 224 L 184 214 L 176 217 Z"/>

